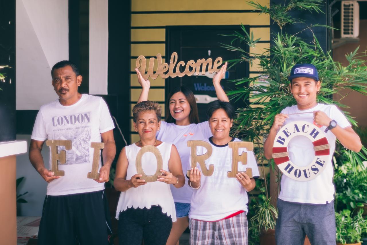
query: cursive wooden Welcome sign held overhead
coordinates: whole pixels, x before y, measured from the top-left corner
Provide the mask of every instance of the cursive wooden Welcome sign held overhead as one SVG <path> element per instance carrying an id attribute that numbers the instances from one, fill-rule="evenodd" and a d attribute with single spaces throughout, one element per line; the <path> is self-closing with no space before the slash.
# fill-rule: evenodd
<path id="1" fill-rule="evenodd" d="M 180 61 L 177 63 L 177 59 L 178 59 L 177 53 L 173 52 L 171 55 L 170 64 L 167 64 L 167 63 L 162 64 L 162 56 L 161 54 L 157 54 L 158 68 L 155 73 L 153 72 L 154 63 L 155 63 L 155 58 L 153 57 L 149 59 L 149 66 L 148 66 L 147 73 L 145 73 L 146 58 L 144 56 L 141 55 L 137 58 L 136 66 L 138 69 L 140 68 L 140 73 L 145 80 L 148 79 L 149 77 L 154 80 L 158 77 L 158 75 L 160 75 L 161 78 L 183 77 L 184 75 L 192 76 L 194 73 L 195 75 L 199 75 L 200 66 L 202 67 L 202 70 L 201 70 L 202 75 L 205 74 L 207 66 L 208 66 L 209 74 L 212 74 L 213 72 L 218 72 L 219 71 L 218 67 L 223 63 L 222 57 L 216 58 L 214 63 L 211 58 L 208 58 L 207 60 L 200 59 L 200 60 L 197 60 L 196 62 L 194 60 L 189 60 L 186 64 L 185 70 L 183 72 L 180 72 L 180 66 L 184 67 L 185 62 Z"/>

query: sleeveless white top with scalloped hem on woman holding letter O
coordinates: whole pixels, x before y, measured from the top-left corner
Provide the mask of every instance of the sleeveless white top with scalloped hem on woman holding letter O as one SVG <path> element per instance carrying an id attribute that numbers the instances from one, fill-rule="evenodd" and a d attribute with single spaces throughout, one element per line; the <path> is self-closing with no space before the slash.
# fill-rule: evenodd
<path id="1" fill-rule="evenodd" d="M 162 142 L 157 149 L 162 155 L 163 169 L 168 171 L 168 160 L 171 156 L 171 143 Z M 126 156 L 128 160 L 127 175 L 126 179 L 130 180 L 131 176 L 137 174 L 136 169 L 136 156 L 138 155 L 140 147 L 132 144 L 126 146 Z M 153 175 L 157 169 L 156 157 L 151 152 L 146 152 L 142 156 L 142 168 L 146 175 Z M 176 221 L 175 203 L 173 201 L 170 185 L 164 182 L 155 181 L 148 182 L 145 185 L 137 188 L 130 188 L 127 191 L 120 193 L 119 203 L 117 203 L 116 219 L 119 219 L 121 211 L 127 208 L 148 208 L 150 209 L 153 205 L 159 205 L 162 208 L 162 212 L 166 213 L 167 216 L 171 216 L 173 222 Z"/>

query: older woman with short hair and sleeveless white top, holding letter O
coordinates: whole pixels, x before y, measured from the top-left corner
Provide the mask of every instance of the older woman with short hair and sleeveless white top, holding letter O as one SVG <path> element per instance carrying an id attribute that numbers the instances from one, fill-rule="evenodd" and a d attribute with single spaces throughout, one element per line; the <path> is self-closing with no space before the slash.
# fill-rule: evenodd
<path id="1" fill-rule="evenodd" d="M 156 102 L 143 101 L 134 106 L 132 116 L 140 141 L 121 150 L 117 160 L 113 184 L 121 191 L 117 204 L 119 244 L 162 245 L 170 234 L 176 212 L 170 186 L 181 188 L 185 184 L 181 160 L 172 143 L 157 140 L 161 126 L 161 107 Z M 163 167 L 157 181 L 146 182 L 137 173 L 136 159 L 143 146 L 155 146 L 162 157 Z M 156 172 L 156 157 L 146 152 L 141 157 L 141 167 L 146 175 Z"/>

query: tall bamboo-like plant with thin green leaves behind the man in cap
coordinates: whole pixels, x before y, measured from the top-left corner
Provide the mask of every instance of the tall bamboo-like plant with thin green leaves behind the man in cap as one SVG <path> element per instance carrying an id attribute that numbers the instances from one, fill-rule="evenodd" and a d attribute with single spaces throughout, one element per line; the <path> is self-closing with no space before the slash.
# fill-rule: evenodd
<path id="1" fill-rule="evenodd" d="M 236 83 L 237 88 L 228 92 L 228 95 L 235 101 L 247 100 L 250 96 L 252 99 L 252 102 L 245 108 L 237 110 L 237 118 L 234 121 L 232 133 L 244 141 L 254 142 L 255 155 L 263 176 L 260 183 L 262 185 L 261 193 L 265 196 L 265 199 L 264 202 L 255 206 L 253 211 L 256 218 L 253 219 L 254 222 L 251 222 L 250 229 L 251 231 L 258 230 L 258 232 L 263 232 L 266 229 L 262 230 L 262 227 L 266 227 L 269 230 L 275 224 L 269 217 L 266 219 L 265 224 L 264 215 L 273 216 L 274 221 L 276 219 L 276 212 L 273 212 L 275 209 L 270 206 L 269 181 L 264 178 L 266 176 L 265 173 L 269 172 L 266 168 L 270 167 L 270 171 L 275 172 L 275 179 L 278 185 L 281 178 L 276 171 L 277 168 L 274 162 L 272 160 L 268 162 L 264 157 L 263 138 L 269 133 L 269 126 L 272 125 L 274 116 L 280 113 L 283 108 L 296 104 L 294 97 L 289 91 L 288 75 L 292 66 L 297 63 L 315 65 L 317 70 L 320 71 L 319 77 L 322 82 L 322 88 L 317 95 L 317 100 L 326 104 L 337 104 L 342 108 L 346 106 L 339 101 L 333 100 L 333 94 L 338 93 L 343 88 L 349 88 L 367 95 L 367 85 L 364 82 L 367 80 L 367 66 L 365 65 L 366 61 L 362 59 L 362 57 L 366 57 L 366 54 L 358 53 L 358 49 L 346 55 L 349 61 L 347 66 L 334 61 L 330 52 L 325 53 L 316 36 L 313 35 L 312 28 L 319 26 L 318 24 L 305 28 L 305 30 L 312 33 L 313 43 L 306 43 L 304 40 L 299 39 L 297 34 L 290 35 L 284 30 L 284 26 L 300 22 L 299 19 L 293 18 L 289 11 L 308 10 L 318 12 L 321 11 L 319 6 L 324 4 L 324 1 L 290 0 L 284 4 L 272 4 L 270 8 L 253 1 L 248 3 L 255 10 L 268 14 L 272 22 L 278 25 L 280 29 L 279 33 L 273 33 L 273 36 L 275 36 L 273 45 L 270 46 L 270 49 L 266 49 L 264 53 L 249 53 L 246 52 L 247 49 L 244 47 L 232 46 L 232 43 L 237 39 L 240 39 L 240 43 L 243 45 L 252 48 L 256 47 L 256 43 L 260 41 L 260 39 L 254 39 L 253 33 L 247 33 L 243 25 L 243 32 L 235 32 L 231 35 L 233 36 L 232 43 L 222 44 L 222 47 L 240 53 L 239 58 L 230 60 L 230 66 L 243 62 L 252 65 L 255 61 L 259 65 L 259 76 L 233 81 Z M 352 125 L 357 126 L 356 121 L 348 113 L 346 113 L 346 116 Z M 362 160 L 367 160 L 365 156 L 367 155 L 367 149 L 363 147 L 361 152 L 349 151 L 349 154 L 353 169 L 356 169 L 357 166 L 363 169 Z M 277 197 L 276 192 L 272 192 L 272 195 L 273 199 Z"/>

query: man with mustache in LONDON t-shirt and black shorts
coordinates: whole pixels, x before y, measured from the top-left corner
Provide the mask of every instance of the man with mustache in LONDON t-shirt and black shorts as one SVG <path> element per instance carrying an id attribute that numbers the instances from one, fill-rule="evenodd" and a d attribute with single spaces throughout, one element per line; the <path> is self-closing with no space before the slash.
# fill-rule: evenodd
<path id="1" fill-rule="evenodd" d="M 34 123 L 29 160 L 48 182 L 37 244 L 109 244 L 110 217 L 104 194 L 110 166 L 116 154 L 112 129 L 115 127 L 106 102 L 101 97 L 80 94 L 82 77 L 70 61 L 52 67 L 52 86 L 58 100 L 41 106 Z M 41 150 L 48 140 L 70 140 L 66 163 L 58 164 L 64 176 L 54 176 L 45 167 Z M 99 179 L 92 172 L 94 148 L 103 142 L 103 166 L 99 159 Z M 58 150 L 65 147 L 58 146 Z"/>

